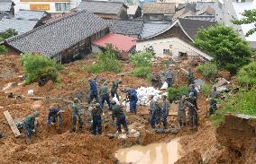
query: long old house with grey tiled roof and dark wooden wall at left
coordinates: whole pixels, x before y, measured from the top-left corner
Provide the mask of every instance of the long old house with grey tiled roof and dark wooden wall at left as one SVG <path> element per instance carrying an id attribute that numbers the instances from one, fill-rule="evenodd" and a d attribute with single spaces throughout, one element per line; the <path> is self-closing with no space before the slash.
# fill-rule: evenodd
<path id="1" fill-rule="evenodd" d="M 18 53 L 38 53 L 63 64 L 87 56 L 91 42 L 108 32 L 108 22 L 93 13 L 80 11 L 6 39 L 5 45 Z"/>

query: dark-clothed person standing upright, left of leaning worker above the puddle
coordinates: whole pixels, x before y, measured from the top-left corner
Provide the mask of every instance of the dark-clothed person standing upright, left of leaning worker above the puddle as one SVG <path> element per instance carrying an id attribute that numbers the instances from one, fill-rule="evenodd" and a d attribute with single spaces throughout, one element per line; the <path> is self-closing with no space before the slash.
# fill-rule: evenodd
<path id="1" fill-rule="evenodd" d="M 100 104 L 96 103 L 96 107 L 93 108 L 91 111 L 91 116 L 92 116 L 92 120 L 93 120 L 93 127 L 92 127 L 93 134 L 101 134 L 101 129 L 102 129 L 101 115 L 102 114 L 103 114 L 103 110 L 102 110 Z"/>

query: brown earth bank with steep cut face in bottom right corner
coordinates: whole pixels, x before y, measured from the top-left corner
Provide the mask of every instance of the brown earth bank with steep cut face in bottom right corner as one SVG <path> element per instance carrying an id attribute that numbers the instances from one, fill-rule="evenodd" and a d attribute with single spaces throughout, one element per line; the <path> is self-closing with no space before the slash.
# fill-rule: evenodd
<path id="1" fill-rule="evenodd" d="M 224 154 L 230 158 L 220 158 L 231 163 L 256 163 L 256 118 L 249 116 L 225 117 L 224 123 L 216 129 L 217 141 L 225 147 Z"/>

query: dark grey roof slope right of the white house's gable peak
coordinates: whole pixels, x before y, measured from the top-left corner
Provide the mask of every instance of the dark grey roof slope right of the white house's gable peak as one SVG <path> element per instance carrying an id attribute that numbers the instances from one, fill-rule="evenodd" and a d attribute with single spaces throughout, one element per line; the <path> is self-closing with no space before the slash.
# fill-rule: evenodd
<path id="1" fill-rule="evenodd" d="M 178 19 L 182 28 L 187 32 L 187 35 L 191 39 L 195 39 L 197 30 L 206 29 L 210 26 L 215 26 L 216 22 L 198 21 L 190 19 Z"/>

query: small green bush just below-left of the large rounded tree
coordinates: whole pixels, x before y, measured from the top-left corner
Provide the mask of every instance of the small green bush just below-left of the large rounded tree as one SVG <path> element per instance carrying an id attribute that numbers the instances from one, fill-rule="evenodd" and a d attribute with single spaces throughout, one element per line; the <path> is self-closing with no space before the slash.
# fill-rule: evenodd
<path id="1" fill-rule="evenodd" d="M 214 63 L 206 63 L 205 65 L 198 65 L 197 70 L 202 73 L 208 80 L 212 80 L 218 73 L 217 66 Z"/>

